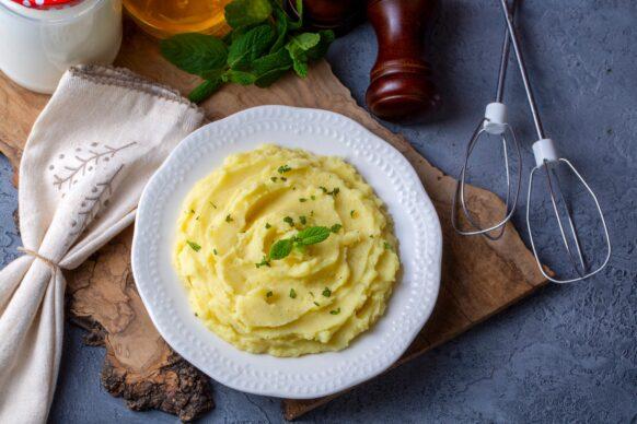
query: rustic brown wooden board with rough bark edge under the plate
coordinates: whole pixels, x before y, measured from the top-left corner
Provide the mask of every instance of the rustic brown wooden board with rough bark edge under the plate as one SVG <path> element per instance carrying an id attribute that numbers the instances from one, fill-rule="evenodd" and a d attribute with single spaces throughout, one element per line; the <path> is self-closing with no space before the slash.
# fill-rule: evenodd
<path id="1" fill-rule="evenodd" d="M 197 78 L 164 61 L 157 42 L 130 23 L 116 66 L 183 93 L 198 83 Z M 15 168 L 33 121 L 47 99 L 0 74 L 0 151 Z M 266 104 L 329 109 L 357 120 L 409 160 L 436 205 L 444 240 L 440 295 L 429 322 L 396 366 L 466 331 L 545 283 L 511 225 L 497 243 L 453 232 L 449 215 L 455 180 L 359 107 L 327 62 L 313 66 L 305 80 L 288 75 L 267 90 L 227 86 L 202 107 L 207 117 L 216 120 Z M 479 204 L 480 219 L 502 212 L 501 202 L 488 191 L 471 187 L 468 197 Z M 81 268 L 67 273 L 69 317 L 90 330 L 89 344 L 105 346 L 102 381 L 111 393 L 124 397 L 136 410 L 155 408 L 192 420 L 213 407 L 208 378 L 175 354 L 152 326 L 130 272 L 131 236 L 132 228 L 125 231 Z M 337 396 L 283 400 L 285 417 L 293 420 Z"/>

